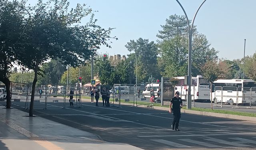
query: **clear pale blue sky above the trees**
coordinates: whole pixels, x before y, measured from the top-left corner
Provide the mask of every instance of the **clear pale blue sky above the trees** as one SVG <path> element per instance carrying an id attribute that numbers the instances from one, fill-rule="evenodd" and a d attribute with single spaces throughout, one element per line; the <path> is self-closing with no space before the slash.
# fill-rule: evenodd
<path id="1" fill-rule="evenodd" d="M 110 55 L 127 55 L 130 52 L 125 44 L 138 38 L 149 41 L 158 40 L 156 34 L 162 30 L 166 18 L 170 15 L 184 15 L 176 0 L 68 0 L 70 7 L 77 3 L 87 4 L 94 12 L 97 24 L 103 28 L 115 28 L 111 36 L 112 48 L 102 46 L 98 52 Z M 192 20 L 203 0 L 179 0 L 188 18 Z M 28 0 L 36 4 L 36 0 Z M 255 9 L 256 0 L 206 0 L 200 8 L 194 25 L 199 33 L 206 35 L 210 48 L 219 51 L 218 57 L 228 60 L 244 56 L 244 39 L 246 39 L 246 56 L 256 52 L 253 45 L 256 35 Z M 86 20 L 83 20 L 82 24 Z"/>

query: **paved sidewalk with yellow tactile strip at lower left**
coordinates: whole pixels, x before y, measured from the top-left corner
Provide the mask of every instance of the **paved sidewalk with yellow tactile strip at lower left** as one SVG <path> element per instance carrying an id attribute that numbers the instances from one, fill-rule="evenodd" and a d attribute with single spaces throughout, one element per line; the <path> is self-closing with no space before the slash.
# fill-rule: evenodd
<path id="1" fill-rule="evenodd" d="M 105 142 L 95 134 L 27 115 L 0 106 L 0 150 L 142 150 Z"/>

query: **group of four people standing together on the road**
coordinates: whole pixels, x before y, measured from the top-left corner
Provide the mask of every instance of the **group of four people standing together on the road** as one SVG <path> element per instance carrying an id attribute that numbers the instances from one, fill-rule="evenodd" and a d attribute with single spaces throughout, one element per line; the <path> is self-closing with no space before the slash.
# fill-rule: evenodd
<path id="1" fill-rule="evenodd" d="M 103 106 L 109 107 L 110 106 L 110 102 L 109 102 L 110 92 L 109 92 L 109 90 L 105 90 L 103 88 L 102 91 L 101 91 L 101 95 L 102 95 Z M 96 99 L 96 106 L 99 106 L 98 105 L 98 101 L 99 101 L 99 98 L 100 98 L 100 93 L 98 92 L 98 90 L 96 90 L 94 92 L 94 89 L 92 89 L 90 91 L 90 96 L 91 96 L 91 103 L 94 103 L 94 97 L 95 97 L 95 99 Z"/>

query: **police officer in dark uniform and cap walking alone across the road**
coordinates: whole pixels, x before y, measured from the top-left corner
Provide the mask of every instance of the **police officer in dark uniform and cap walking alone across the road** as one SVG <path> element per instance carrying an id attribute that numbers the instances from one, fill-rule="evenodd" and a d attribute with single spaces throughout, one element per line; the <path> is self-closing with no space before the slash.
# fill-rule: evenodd
<path id="1" fill-rule="evenodd" d="M 170 103 L 170 110 L 169 112 L 173 114 L 173 122 L 172 122 L 172 130 L 180 131 L 178 129 L 179 122 L 180 122 L 180 108 L 182 108 L 182 99 L 179 97 L 180 92 L 176 92 L 175 96 L 172 98 L 171 103 Z"/>

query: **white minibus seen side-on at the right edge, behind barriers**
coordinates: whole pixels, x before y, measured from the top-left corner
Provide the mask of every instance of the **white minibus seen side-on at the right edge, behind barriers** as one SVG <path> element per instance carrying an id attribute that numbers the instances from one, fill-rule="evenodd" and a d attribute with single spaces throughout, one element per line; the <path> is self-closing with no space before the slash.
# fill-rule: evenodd
<path id="1" fill-rule="evenodd" d="M 256 97 L 256 84 L 251 79 L 219 79 L 213 82 L 213 102 L 228 103 L 230 105 L 250 103 L 251 97 Z M 250 92 L 250 91 L 253 92 Z M 254 98 L 255 99 L 255 98 Z"/>

